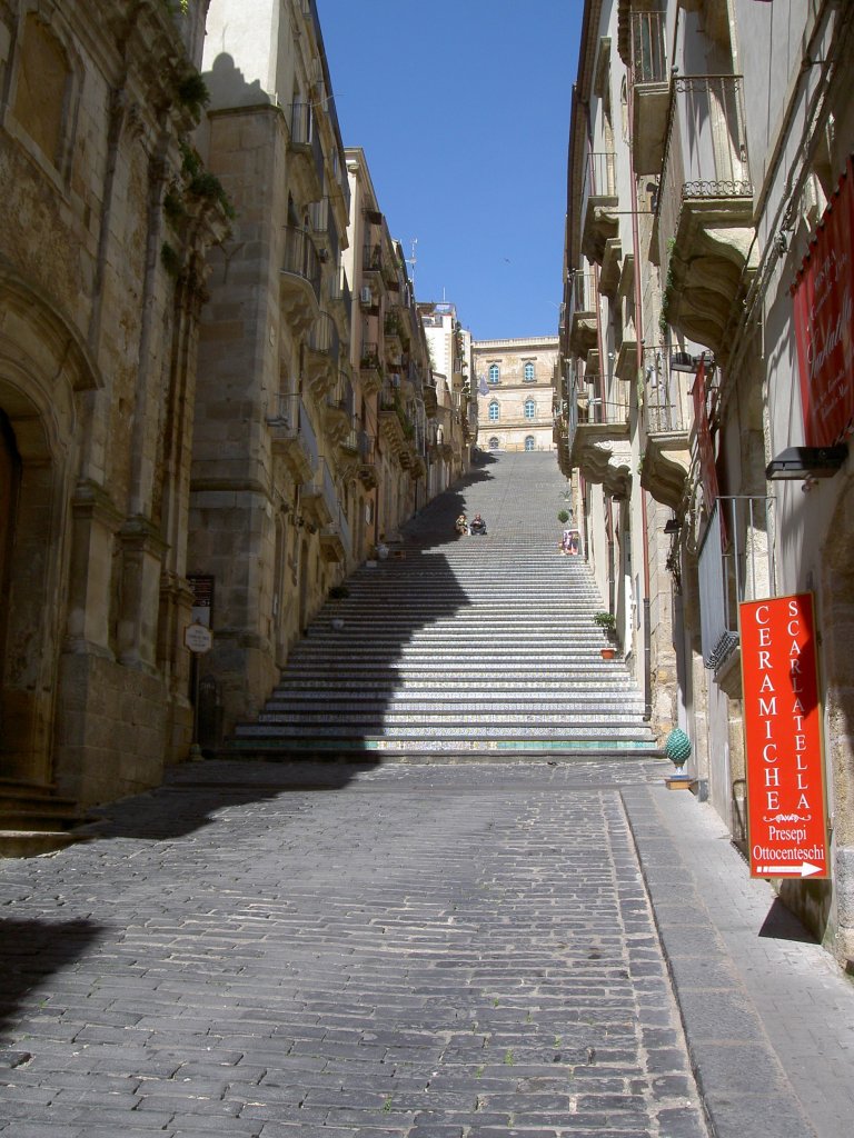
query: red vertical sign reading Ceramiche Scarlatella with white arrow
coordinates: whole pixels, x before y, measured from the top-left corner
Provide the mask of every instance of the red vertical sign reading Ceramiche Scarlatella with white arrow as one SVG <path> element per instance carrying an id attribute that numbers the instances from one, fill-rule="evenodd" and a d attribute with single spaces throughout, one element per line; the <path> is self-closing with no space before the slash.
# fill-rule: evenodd
<path id="1" fill-rule="evenodd" d="M 753 877 L 828 877 L 811 593 L 739 605 Z"/>

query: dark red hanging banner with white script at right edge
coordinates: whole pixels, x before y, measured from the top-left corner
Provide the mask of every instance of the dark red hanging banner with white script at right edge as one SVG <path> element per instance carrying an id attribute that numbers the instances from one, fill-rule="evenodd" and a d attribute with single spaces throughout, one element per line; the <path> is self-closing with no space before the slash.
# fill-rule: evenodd
<path id="1" fill-rule="evenodd" d="M 854 428 L 854 160 L 828 204 L 795 283 L 804 438 L 834 446 Z"/>

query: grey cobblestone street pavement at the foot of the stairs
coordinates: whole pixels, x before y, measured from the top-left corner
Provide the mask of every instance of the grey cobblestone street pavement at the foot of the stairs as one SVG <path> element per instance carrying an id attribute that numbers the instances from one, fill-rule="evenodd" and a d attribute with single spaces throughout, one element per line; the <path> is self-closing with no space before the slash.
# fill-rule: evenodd
<path id="1" fill-rule="evenodd" d="M 0 864 L 0 1132 L 841 1138 L 852 989 L 786 939 L 813 1006 L 753 1003 L 705 809 L 634 761 L 176 768 Z"/>

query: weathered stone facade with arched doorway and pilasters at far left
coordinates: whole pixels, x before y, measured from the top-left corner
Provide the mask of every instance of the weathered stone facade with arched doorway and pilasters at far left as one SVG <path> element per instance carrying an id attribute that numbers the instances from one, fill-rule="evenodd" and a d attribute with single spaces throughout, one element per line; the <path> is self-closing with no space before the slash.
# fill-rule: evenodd
<path id="1" fill-rule="evenodd" d="M 0 3 L 0 770 L 81 803 L 186 753 L 189 450 L 220 188 L 204 10 Z"/>

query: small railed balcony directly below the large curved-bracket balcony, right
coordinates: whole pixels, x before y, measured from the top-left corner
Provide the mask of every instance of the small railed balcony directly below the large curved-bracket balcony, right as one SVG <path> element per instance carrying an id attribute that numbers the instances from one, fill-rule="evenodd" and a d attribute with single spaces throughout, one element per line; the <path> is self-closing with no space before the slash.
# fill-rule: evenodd
<path id="1" fill-rule="evenodd" d="M 691 386 L 695 376 L 671 368 L 658 348 L 643 353 L 643 409 L 646 435 L 640 484 L 656 502 L 676 510 L 682 502 L 691 467 L 689 434 L 692 422 Z"/>

